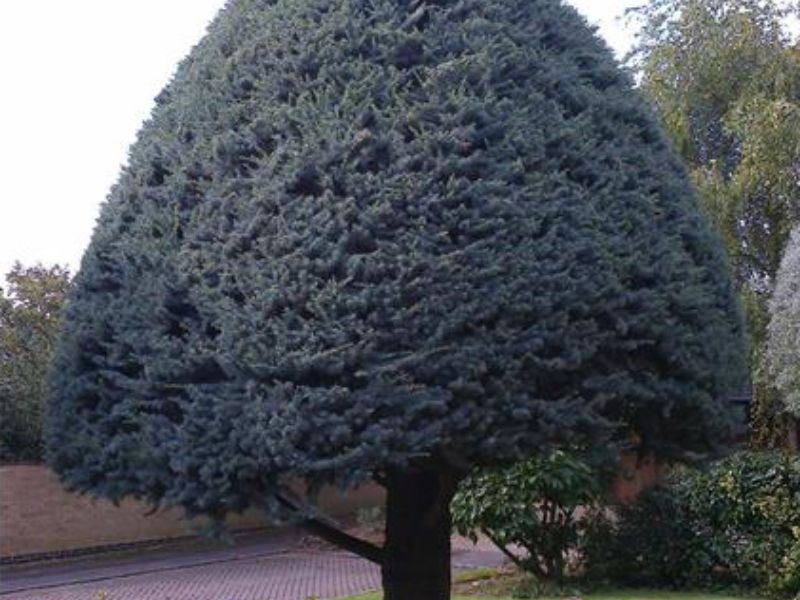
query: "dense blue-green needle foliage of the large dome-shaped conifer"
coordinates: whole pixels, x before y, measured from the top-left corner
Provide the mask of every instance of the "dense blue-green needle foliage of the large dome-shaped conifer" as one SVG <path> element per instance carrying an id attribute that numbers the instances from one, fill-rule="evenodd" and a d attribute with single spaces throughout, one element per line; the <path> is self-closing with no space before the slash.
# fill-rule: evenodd
<path id="1" fill-rule="evenodd" d="M 53 380 L 73 487 L 211 515 L 611 428 L 705 451 L 721 246 L 557 0 L 233 0 L 105 204 Z"/>

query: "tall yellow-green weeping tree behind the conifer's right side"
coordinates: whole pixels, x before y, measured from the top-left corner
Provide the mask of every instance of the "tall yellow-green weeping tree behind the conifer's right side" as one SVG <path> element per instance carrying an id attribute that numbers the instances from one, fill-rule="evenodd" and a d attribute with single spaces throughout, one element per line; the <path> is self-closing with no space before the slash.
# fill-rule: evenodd
<path id="1" fill-rule="evenodd" d="M 725 239 L 747 312 L 754 442 L 782 444 L 765 354 L 767 305 L 800 222 L 800 5 L 778 0 L 651 0 L 633 67 Z"/>

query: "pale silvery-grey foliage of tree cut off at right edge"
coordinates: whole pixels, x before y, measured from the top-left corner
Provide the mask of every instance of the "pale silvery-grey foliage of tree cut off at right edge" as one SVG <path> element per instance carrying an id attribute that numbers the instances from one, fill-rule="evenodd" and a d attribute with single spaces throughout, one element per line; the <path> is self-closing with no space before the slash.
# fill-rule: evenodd
<path id="1" fill-rule="evenodd" d="M 789 411 L 800 418 L 800 227 L 778 271 L 770 314 L 769 361 L 775 387 Z"/>

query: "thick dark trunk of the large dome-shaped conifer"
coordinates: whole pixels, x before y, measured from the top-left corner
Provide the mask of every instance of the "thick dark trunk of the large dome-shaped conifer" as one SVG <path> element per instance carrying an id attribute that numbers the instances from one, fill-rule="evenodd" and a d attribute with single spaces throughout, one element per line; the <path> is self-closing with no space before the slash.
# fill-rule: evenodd
<path id="1" fill-rule="evenodd" d="M 450 500 L 456 483 L 436 470 L 387 475 L 384 600 L 450 598 Z"/>

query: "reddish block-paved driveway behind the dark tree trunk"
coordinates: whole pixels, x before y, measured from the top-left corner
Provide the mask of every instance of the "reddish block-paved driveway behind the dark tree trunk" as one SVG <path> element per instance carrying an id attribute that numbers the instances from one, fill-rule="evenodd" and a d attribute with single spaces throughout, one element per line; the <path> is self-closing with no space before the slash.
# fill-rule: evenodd
<path id="1" fill-rule="evenodd" d="M 0 600 L 321 600 L 379 587 L 375 565 L 299 539 L 272 532 L 232 548 L 6 568 Z M 496 550 L 455 544 L 455 569 L 502 562 Z"/>

